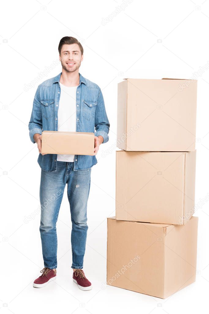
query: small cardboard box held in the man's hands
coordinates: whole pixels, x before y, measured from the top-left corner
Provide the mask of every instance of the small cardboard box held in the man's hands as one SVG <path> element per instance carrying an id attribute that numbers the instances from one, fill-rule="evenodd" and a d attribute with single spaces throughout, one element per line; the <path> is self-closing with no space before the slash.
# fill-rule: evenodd
<path id="1" fill-rule="evenodd" d="M 94 154 L 94 133 L 43 131 L 42 154 Z"/>

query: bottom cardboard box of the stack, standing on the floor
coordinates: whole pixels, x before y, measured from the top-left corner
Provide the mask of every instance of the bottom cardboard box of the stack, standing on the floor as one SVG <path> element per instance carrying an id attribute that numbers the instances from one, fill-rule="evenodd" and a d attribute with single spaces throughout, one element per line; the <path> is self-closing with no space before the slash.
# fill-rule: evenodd
<path id="1" fill-rule="evenodd" d="M 185 226 L 107 219 L 107 284 L 165 299 L 196 280 L 198 217 Z"/>

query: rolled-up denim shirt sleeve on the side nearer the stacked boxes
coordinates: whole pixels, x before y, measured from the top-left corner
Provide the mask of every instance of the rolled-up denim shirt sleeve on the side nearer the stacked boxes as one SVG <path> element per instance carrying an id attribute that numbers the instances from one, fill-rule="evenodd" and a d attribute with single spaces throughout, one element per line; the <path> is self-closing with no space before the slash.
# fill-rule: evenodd
<path id="1" fill-rule="evenodd" d="M 109 130 L 110 130 L 110 122 L 107 117 L 107 113 L 105 110 L 105 102 L 102 95 L 101 89 L 99 89 L 98 101 L 95 112 L 95 136 L 101 135 L 104 138 L 103 143 L 109 141 Z"/>

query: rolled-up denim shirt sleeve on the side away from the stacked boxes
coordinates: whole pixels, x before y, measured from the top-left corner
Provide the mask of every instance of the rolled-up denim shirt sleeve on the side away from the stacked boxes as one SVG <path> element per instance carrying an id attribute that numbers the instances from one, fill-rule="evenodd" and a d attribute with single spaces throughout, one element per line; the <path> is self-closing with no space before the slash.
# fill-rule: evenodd
<path id="1" fill-rule="evenodd" d="M 28 123 L 29 128 L 29 137 L 32 143 L 35 143 L 33 136 L 36 133 L 42 134 L 42 114 L 41 114 L 41 103 L 39 97 L 39 87 L 36 90 L 34 100 L 33 100 L 33 109 Z"/>

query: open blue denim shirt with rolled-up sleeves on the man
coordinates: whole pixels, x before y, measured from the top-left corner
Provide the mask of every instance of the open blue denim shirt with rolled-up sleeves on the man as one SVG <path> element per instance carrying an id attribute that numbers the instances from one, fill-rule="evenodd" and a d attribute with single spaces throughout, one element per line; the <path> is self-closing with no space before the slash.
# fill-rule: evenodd
<path id="1" fill-rule="evenodd" d="M 38 85 L 33 100 L 33 109 L 28 124 L 29 136 L 42 134 L 44 130 L 58 131 L 58 109 L 60 99 L 59 79 L 62 72 Z M 94 127 L 96 132 L 94 132 Z M 79 85 L 76 90 L 76 132 L 92 132 L 101 135 L 106 143 L 109 140 L 110 123 L 107 118 L 104 98 L 99 86 L 79 73 Z M 57 170 L 57 154 L 39 153 L 39 166 L 43 171 Z M 74 171 L 89 169 L 97 164 L 96 156 L 75 155 Z"/>

